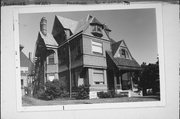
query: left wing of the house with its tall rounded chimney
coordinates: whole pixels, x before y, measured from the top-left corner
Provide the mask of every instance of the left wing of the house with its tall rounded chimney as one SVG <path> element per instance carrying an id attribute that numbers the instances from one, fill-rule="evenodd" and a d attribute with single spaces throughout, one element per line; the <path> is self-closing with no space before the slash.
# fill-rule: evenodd
<path id="1" fill-rule="evenodd" d="M 47 33 L 47 20 L 40 21 L 40 31 L 35 46 L 35 81 L 34 94 L 44 88 L 47 80 L 59 79 L 58 75 L 58 44 L 54 37 Z"/>

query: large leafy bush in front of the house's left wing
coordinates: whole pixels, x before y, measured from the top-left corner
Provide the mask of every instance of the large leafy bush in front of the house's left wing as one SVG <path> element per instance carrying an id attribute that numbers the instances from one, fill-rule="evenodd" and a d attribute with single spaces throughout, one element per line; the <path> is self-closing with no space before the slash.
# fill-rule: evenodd
<path id="1" fill-rule="evenodd" d="M 66 97 L 68 93 L 60 80 L 47 81 L 45 90 L 38 91 L 38 98 L 43 100 L 52 100 L 58 97 Z"/>

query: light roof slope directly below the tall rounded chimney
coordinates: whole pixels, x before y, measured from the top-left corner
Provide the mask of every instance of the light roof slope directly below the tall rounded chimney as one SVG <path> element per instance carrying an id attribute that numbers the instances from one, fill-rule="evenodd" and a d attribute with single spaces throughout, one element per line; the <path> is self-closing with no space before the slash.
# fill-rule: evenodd
<path id="1" fill-rule="evenodd" d="M 43 39 L 46 47 L 58 47 L 56 40 L 51 34 L 47 33 L 47 35 L 44 36 L 41 32 L 39 32 L 39 36 Z"/>

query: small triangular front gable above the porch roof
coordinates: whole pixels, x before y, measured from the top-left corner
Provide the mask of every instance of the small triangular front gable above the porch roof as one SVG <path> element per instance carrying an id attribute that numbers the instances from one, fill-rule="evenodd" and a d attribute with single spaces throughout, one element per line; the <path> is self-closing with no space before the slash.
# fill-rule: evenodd
<path id="1" fill-rule="evenodd" d="M 130 59 L 130 60 L 133 59 L 124 40 L 122 40 L 121 43 L 119 44 L 119 47 L 117 48 L 117 50 L 114 53 L 114 57 Z"/>

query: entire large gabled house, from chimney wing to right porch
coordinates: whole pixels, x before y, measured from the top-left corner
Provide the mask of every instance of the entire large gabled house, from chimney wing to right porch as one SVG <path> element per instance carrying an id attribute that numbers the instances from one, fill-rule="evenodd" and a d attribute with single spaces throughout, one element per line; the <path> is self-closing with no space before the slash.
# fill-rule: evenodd
<path id="1" fill-rule="evenodd" d="M 90 98 L 100 91 L 133 90 L 133 73 L 139 71 L 140 66 L 124 40 L 115 42 L 110 38 L 107 25 L 91 15 L 81 21 L 55 16 L 51 36 L 47 35 L 46 23 L 42 18 L 36 42 L 37 86 L 53 79 L 50 73 L 67 91 L 90 85 Z M 56 63 L 48 66 L 52 54 Z"/>

